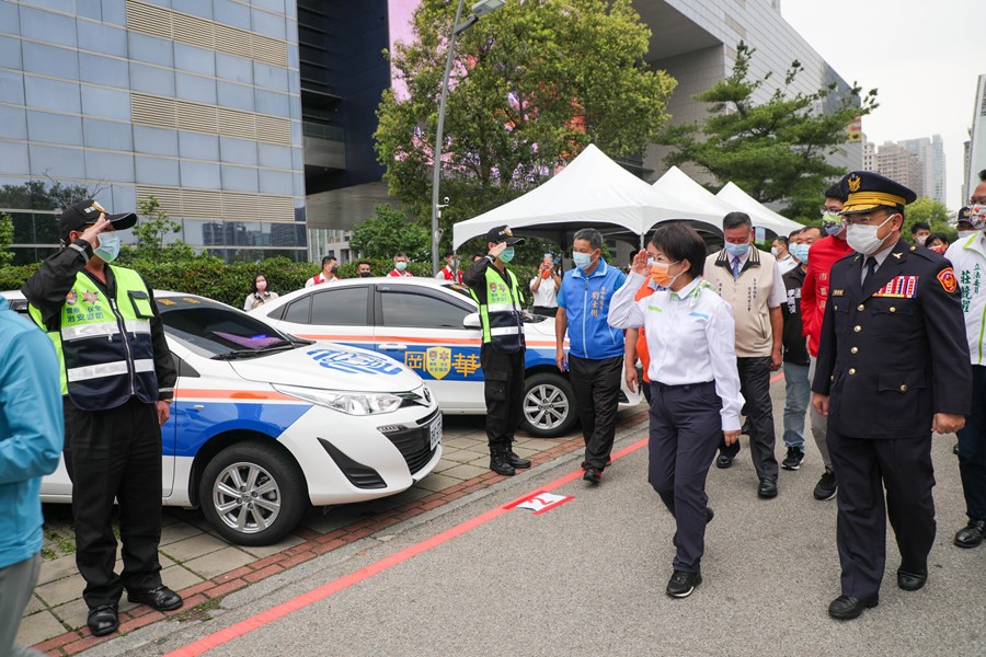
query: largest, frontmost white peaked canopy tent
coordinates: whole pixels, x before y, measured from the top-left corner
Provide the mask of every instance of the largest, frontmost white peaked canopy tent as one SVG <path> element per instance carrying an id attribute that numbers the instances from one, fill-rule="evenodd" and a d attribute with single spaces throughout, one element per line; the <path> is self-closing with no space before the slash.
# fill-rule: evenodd
<path id="1" fill-rule="evenodd" d="M 689 204 L 649 184 L 589 145 L 561 173 L 524 196 L 484 212 L 452 229 L 452 246 L 507 224 L 517 234 L 569 244 L 571 234 L 585 227 L 612 237 L 637 235 L 634 243 L 657 222 L 691 219 L 721 230 L 722 216 Z M 615 230 L 607 230 L 615 229 Z"/>

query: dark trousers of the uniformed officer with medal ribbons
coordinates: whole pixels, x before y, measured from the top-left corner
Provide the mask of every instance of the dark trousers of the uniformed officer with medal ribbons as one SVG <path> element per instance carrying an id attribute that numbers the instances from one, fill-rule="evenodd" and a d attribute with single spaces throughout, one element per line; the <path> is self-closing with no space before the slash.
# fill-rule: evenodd
<path id="1" fill-rule="evenodd" d="M 931 552 L 936 528 L 931 434 L 873 440 L 844 436 L 829 425 L 827 439 L 839 473 L 836 544 L 842 595 L 862 599 L 880 590 L 887 518 L 904 569 L 914 573 L 925 567 Z"/>

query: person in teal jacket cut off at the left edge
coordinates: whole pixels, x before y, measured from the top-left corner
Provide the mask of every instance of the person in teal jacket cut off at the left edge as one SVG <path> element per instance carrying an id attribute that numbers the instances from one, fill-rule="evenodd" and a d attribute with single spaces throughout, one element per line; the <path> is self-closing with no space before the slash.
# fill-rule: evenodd
<path id="1" fill-rule="evenodd" d="M 58 358 L 51 341 L 0 297 L 0 655 L 15 647 L 41 569 L 41 480 L 65 439 Z"/>

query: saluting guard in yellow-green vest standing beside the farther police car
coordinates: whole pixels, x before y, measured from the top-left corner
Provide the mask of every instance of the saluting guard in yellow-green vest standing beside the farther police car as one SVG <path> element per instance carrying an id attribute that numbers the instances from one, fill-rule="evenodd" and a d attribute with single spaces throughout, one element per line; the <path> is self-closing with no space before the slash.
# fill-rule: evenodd
<path id="1" fill-rule="evenodd" d="M 490 443 L 490 470 L 512 476 L 517 468 L 530 468 L 530 461 L 514 453 L 514 431 L 520 425 L 524 403 L 524 307 L 517 277 L 506 268 L 514 258 L 514 246 L 524 243 L 506 226 L 486 233 L 490 253 L 472 263 L 463 280 L 480 304 L 483 368 L 486 397 L 486 440 Z"/>

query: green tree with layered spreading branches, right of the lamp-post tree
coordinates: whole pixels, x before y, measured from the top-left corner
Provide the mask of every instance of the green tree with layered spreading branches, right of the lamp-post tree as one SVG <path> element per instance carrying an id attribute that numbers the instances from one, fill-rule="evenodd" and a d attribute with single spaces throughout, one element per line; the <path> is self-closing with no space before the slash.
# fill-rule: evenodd
<path id="1" fill-rule="evenodd" d="M 732 74 L 695 95 L 709 104 L 707 118 L 664 131 L 658 142 L 676 149 L 665 162 L 698 164 L 718 187 L 732 181 L 760 203 L 784 201 L 781 214 L 792 219 L 815 217 L 822 192 L 847 173 L 825 158 L 848 141 L 847 127 L 855 117 L 878 106 L 876 90 L 862 99 L 858 87 L 838 99 L 835 83 L 814 93 L 792 92 L 804 72 L 794 60 L 783 83 L 758 104 L 754 99 L 771 74 L 750 79 L 754 53 L 741 42 Z"/>

